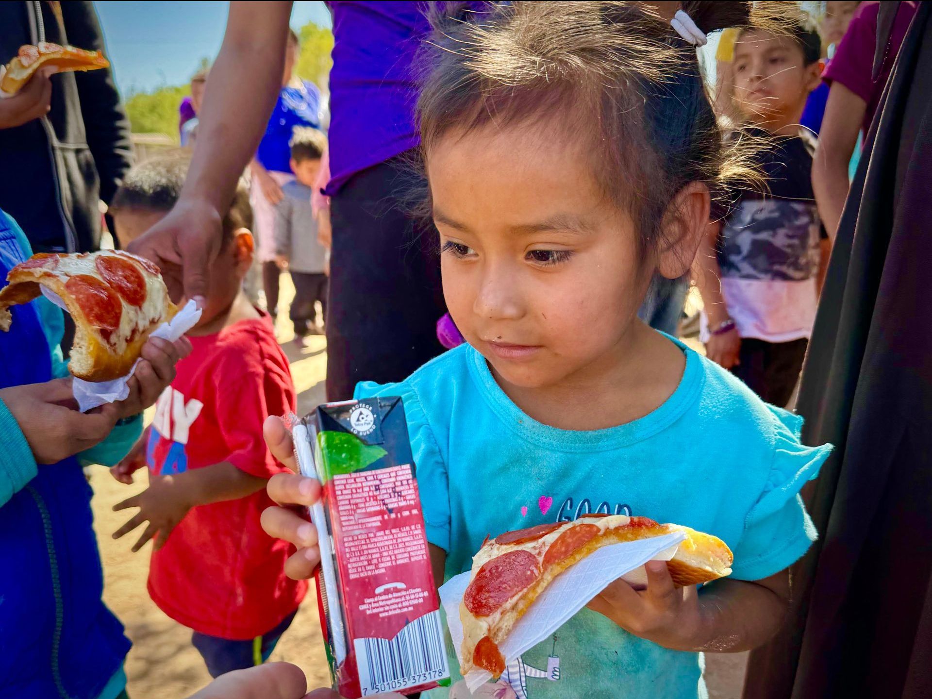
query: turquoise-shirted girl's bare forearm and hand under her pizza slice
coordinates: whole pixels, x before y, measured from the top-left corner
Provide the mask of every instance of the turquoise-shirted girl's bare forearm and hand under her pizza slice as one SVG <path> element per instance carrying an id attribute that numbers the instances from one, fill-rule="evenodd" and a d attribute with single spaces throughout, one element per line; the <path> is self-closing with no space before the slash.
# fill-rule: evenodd
<path id="1" fill-rule="evenodd" d="M 694 585 L 674 587 L 663 561 L 651 561 L 646 569 L 646 590 L 615 581 L 588 606 L 673 651 L 757 648 L 779 630 L 788 609 L 787 570 L 753 583 L 720 580 L 697 591 Z"/>

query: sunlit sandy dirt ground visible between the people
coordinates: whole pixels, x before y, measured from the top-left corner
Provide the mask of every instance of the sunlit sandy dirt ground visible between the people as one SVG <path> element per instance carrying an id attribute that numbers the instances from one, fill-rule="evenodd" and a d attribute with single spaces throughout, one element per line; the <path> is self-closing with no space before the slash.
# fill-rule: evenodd
<path id="1" fill-rule="evenodd" d="M 287 275 L 282 276 L 281 287 L 281 308 L 287 308 L 294 295 Z M 280 315 L 276 334 L 291 362 L 298 391 L 298 410 L 304 414 L 324 399 L 326 342 L 322 337 L 311 337 L 307 347 L 297 348 L 292 342 L 293 333 L 286 313 Z M 147 418 L 151 420 L 151 411 Z M 126 512 L 114 513 L 111 508 L 144 488 L 144 477 L 137 478 L 137 481 L 141 482 L 131 487 L 124 486 L 103 468 L 94 469 L 91 474 L 91 485 L 95 491 L 95 528 L 103 558 L 103 598 L 126 625 L 127 635 L 133 643 L 126 662 L 130 697 L 183 699 L 206 685 L 210 675 L 198 651 L 191 646 L 190 631 L 165 616 L 149 599 L 145 579 L 151 544 L 146 544 L 138 554 L 132 554 L 130 546 L 135 540 L 131 535 L 119 541 L 113 541 L 110 536 L 129 518 Z M 329 683 L 313 589 L 298 611 L 294 624 L 281 638 L 271 660 L 299 665 L 308 676 L 310 687 Z M 744 653 L 706 657 L 706 681 L 712 699 L 737 699 L 740 696 L 745 660 Z"/>

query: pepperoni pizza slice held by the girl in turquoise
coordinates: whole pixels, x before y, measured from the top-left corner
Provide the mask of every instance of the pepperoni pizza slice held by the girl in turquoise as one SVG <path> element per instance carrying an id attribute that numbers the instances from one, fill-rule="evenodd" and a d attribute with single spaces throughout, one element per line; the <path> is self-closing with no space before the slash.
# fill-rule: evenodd
<path id="1" fill-rule="evenodd" d="M 463 625 L 462 669 L 481 668 L 498 678 L 505 669 L 499 644 L 557 575 L 602 546 L 681 531 L 686 540 L 667 569 L 678 586 L 707 583 L 732 572 L 732 552 L 724 541 L 647 517 L 586 514 L 509 531 L 486 540 L 473 557 L 472 578 L 459 606 Z"/>

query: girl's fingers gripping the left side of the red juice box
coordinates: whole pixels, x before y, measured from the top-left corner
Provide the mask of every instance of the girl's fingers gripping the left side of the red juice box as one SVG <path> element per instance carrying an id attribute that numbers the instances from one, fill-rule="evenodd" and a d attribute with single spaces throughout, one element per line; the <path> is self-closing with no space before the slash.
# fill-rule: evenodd
<path id="1" fill-rule="evenodd" d="M 266 418 L 263 432 L 272 456 L 297 471 L 295 446 L 281 418 Z M 268 507 L 262 513 L 262 528 L 268 536 L 289 541 L 297 547 L 285 561 L 285 575 L 293 580 L 309 578 L 321 562 L 321 550 L 317 545 L 317 528 L 304 514 L 306 507 L 320 500 L 321 484 L 297 473 L 276 473 L 268 479 L 266 491 L 279 507 Z"/>

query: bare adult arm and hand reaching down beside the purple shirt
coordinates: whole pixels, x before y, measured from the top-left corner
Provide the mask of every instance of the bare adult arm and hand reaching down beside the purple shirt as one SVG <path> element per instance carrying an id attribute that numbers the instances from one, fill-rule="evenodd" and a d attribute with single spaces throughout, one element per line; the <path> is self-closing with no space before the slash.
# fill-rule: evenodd
<path id="1" fill-rule="evenodd" d="M 230 3 L 181 196 L 165 218 L 130 245 L 131 252 L 161 267 L 174 299 L 207 293 L 223 215 L 281 89 L 291 8 L 285 0 Z"/>

